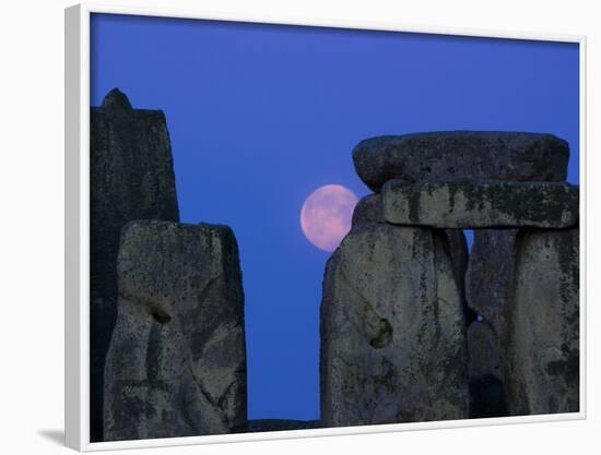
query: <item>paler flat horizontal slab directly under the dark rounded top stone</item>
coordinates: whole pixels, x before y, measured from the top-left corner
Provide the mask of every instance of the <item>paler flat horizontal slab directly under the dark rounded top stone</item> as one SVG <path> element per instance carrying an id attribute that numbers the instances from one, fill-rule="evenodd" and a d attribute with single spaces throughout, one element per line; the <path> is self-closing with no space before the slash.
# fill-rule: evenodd
<path id="1" fill-rule="evenodd" d="M 567 228 L 578 223 L 578 187 L 562 182 L 461 180 L 384 185 L 388 223 L 436 228 Z"/>

